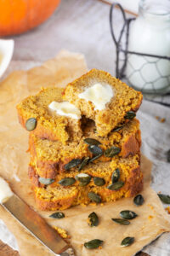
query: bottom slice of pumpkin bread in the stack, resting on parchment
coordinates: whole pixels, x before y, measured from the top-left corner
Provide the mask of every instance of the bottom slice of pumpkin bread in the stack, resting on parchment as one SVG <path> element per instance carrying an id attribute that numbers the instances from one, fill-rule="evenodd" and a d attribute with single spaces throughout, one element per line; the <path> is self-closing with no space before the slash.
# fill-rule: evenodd
<path id="1" fill-rule="evenodd" d="M 81 173 L 63 173 L 50 183 L 43 188 L 41 185 L 34 187 L 37 207 L 42 210 L 62 210 L 134 196 L 143 187 L 143 174 L 137 154 L 127 159 L 117 157 L 111 162 L 90 164 Z"/>

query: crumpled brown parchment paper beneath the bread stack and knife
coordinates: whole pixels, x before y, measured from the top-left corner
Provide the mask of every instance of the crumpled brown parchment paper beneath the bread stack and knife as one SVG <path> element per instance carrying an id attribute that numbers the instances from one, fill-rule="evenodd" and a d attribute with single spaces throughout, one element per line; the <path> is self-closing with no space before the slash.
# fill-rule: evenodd
<path id="1" fill-rule="evenodd" d="M 103 206 L 72 207 L 65 210 L 65 218 L 59 220 L 48 218 L 52 212 L 37 210 L 31 192 L 31 183 L 27 177 L 28 133 L 18 123 L 15 105 L 25 96 L 36 93 L 42 86 L 64 87 L 65 84 L 86 71 L 87 67 L 82 55 L 62 51 L 54 60 L 45 62 L 42 67 L 11 73 L 0 84 L 0 175 L 10 182 L 17 195 L 47 219 L 48 224 L 63 228 L 68 232 L 71 236 L 69 242 L 74 247 L 77 256 L 133 255 L 161 233 L 170 230 L 170 218 L 164 211 L 156 192 L 150 188 L 150 160 L 142 156 L 143 206 L 134 206 L 133 199 L 130 198 Z M 113 223 L 111 218 L 119 218 L 119 212 L 125 209 L 136 212 L 139 217 L 133 219 L 128 226 Z M 99 226 L 90 228 L 87 218 L 88 214 L 93 211 L 99 215 Z M 32 253 L 37 256 L 54 255 L 20 226 L 3 207 L 0 207 L 0 218 L 16 237 L 21 256 L 30 256 Z M 131 247 L 120 247 L 125 236 L 135 237 L 135 242 Z M 89 251 L 83 247 L 85 241 L 96 238 L 104 241 L 102 249 Z"/>

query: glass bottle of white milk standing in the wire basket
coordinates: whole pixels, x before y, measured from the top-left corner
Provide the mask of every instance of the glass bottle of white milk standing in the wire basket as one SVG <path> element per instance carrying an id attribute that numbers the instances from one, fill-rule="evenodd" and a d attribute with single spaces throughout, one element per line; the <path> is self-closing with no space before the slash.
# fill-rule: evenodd
<path id="1" fill-rule="evenodd" d="M 170 0 L 140 0 L 139 16 L 130 26 L 128 50 L 170 57 Z M 126 75 L 137 89 L 157 92 L 170 86 L 170 61 L 128 54 Z"/>

